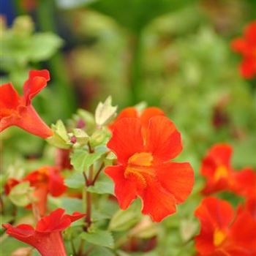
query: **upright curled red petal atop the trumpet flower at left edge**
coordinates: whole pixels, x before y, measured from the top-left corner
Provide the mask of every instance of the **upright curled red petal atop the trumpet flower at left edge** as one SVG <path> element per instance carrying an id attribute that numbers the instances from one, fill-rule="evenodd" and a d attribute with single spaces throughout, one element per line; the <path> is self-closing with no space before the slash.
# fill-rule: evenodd
<path id="1" fill-rule="evenodd" d="M 29 72 L 29 79 L 26 80 L 23 86 L 25 105 L 31 104 L 31 99 L 45 88 L 48 80 L 50 80 L 50 74 L 46 69 L 31 70 Z"/>

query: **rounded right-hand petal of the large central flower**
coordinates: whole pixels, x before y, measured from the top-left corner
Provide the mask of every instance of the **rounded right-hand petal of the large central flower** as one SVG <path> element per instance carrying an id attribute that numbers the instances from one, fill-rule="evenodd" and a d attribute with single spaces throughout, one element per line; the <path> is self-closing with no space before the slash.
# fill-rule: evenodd
<path id="1" fill-rule="evenodd" d="M 167 162 L 155 170 L 160 184 L 175 197 L 176 203 L 187 199 L 194 184 L 194 172 L 189 163 Z"/>

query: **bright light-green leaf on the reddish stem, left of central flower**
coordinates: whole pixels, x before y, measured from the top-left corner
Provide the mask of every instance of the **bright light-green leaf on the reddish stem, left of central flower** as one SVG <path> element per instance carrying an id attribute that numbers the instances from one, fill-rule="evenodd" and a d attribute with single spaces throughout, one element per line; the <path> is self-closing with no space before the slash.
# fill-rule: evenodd
<path id="1" fill-rule="evenodd" d="M 77 149 L 71 156 L 71 164 L 80 172 L 88 170 L 91 165 L 94 164 L 101 156 L 102 152 L 89 153 L 83 149 Z"/>

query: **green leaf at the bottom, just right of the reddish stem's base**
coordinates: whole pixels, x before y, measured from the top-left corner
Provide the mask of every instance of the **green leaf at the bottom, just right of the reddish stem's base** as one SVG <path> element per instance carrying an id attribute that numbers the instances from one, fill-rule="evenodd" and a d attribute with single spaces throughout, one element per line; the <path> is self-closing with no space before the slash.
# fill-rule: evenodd
<path id="1" fill-rule="evenodd" d="M 80 238 L 88 241 L 91 244 L 97 244 L 113 248 L 114 240 L 110 231 L 107 230 L 96 230 L 94 233 L 82 233 Z"/>

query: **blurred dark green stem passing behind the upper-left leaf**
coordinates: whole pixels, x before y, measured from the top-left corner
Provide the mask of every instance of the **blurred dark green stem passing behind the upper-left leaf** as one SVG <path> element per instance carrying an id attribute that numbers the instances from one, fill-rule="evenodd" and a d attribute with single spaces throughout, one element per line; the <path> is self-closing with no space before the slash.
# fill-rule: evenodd
<path id="1" fill-rule="evenodd" d="M 56 33 L 54 18 L 55 4 L 52 0 L 39 1 L 37 8 L 37 21 L 42 31 L 51 31 Z M 49 61 L 50 73 L 55 83 L 55 94 L 57 95 L 61 106 L 59 108 L 58 118 L 69 118 L 75 112 L 75 94 L 70 86 L 70 80 L 64 65 L 64 58 L 61 53 L 56 53 Z"/>

